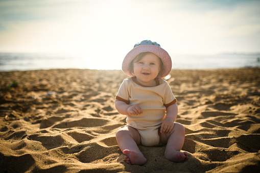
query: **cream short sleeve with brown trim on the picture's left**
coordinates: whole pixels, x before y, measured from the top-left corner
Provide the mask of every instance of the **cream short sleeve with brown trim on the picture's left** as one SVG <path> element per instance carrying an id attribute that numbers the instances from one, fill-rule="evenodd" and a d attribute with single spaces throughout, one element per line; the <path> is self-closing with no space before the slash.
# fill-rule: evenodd
<path id="1" fill-rule="evenodd" d="M 126 102 L 127 104 L 129 104 L 129 81 L 128 79 L 125 79 L 120 88 L 119 91 L 117 92 L 115 99 Z"/>

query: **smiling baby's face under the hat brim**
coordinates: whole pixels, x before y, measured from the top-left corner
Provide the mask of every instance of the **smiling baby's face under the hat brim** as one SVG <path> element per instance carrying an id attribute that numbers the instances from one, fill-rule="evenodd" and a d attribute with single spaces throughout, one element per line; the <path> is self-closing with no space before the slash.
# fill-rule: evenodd
<path id="1" fill-rule="evenodd" d="M 140 61 L 133 64 L 137 81 L 145 86 L 154 86 L 154 79 L 160 71 L 160 60 L 153 53 L 146 54 Z"/>

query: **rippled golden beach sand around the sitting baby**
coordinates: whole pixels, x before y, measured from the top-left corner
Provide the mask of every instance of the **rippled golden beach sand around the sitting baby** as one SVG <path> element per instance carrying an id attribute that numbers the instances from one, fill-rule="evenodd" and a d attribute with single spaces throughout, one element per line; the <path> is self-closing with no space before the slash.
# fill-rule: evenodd
<path id="1" fill-rule="evenodd" d="M 260 69 L 171 75 L 188 160 L 139 146 L 148 162 L 138 166 L 126 164 L 115 139 L 126 125 L 114 107 L 121 70 L 0 72 L 0 171 L 259 172 Z"/>

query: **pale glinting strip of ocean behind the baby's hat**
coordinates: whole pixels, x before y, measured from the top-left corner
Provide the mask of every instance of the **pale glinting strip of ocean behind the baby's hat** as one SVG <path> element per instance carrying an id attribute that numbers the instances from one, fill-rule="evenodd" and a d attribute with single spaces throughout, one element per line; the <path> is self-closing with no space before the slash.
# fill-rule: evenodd
<path id="1" fill-rule="evenodd" d="M 260 67 L 260 53 L 217 55 L 171 55 L 173 69 L 219 69 Z M 68 54 L 0 53 L 0 71 L 39 69 L 121 69 L 117 63 Z M 103 63 L 103 64 L 102 64 Z M 97 65 L 98 64 L 98 65 Z"/>

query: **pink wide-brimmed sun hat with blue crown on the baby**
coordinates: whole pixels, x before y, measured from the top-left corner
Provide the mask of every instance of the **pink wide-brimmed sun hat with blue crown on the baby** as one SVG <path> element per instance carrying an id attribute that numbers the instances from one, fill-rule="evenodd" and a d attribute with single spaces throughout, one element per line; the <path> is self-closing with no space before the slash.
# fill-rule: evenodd
<path id="1" fill-rule="evenodd" d="M 159 72 L 157 78 L 164 78 L 169 75 L 172 70 L 172 60 L 170 55 L 163 48 L 161 48 L 160 44 L 152 42 L 151 40 L 144 40 L 136 43 L 133 49 L 126 55 L 122 63 L 122 70 L 126 73 L 126 75 L 130 77 L 134 76 L 130 72 L 130 64 L 137 55 L 143 52 L 151 52 L 161 59 L 163 69 Z"/>

